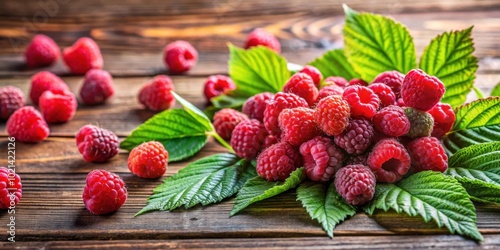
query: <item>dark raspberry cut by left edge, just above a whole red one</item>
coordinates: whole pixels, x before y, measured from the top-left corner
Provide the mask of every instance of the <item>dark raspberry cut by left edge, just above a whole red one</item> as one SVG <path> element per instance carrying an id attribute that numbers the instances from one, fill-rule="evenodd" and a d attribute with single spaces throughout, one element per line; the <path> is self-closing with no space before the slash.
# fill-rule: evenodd
<path id="1" fill-rule="evenodd" d="M 25 105 L 23 92 L 13 86 L 0 87 L 0 119 L 7 120 Z"/>

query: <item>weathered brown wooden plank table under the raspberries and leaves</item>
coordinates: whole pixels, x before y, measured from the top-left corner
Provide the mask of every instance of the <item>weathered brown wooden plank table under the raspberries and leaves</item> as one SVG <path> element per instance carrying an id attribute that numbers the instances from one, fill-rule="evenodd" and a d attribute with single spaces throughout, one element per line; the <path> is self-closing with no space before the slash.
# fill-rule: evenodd
<path id="1" fill-rule="evenodd" d="M 175 39 L 191 41 L 200 51 L 198 65 L 184 76 L 173 76 L 176 91 L 203 108 L 202 86 L 207 76 L 227 72 L 226 42 L 241 45 L 254 27 L 275 33 L 283 55 L 304 64 L 342 43 L 340 1 L 117 1 L 3 0 L 0 3 L 0 86 L 14 85 L 27 96 L 29 78 L 22 53 L 34 33 L 48 34 L 65 47 L 82 36 L 93 37 L 104 54 L 105 69 L 116 95 L 105 105 L 80 106 L 74 119 L 51 125 L 50 137 L 38 144 L 16 143 L 17 171 L 23 198 L 16 207 L 16 242 L 7 242 L 9 215 L 0 212 L 1 247 L 18 248 L 500 248 L 500 207 L 477 204 L 477 224 L 484 242 L 474 241 L 424 224 L 418 218 L 363 213 L 340 224 L 330 239 L 312 221 L 294 192 L 250 206 L 229 218 L 234 199 L 219 205 L 173 212 L 153 212 L 133 218 L 152 190 L 162 182 L 144 180 L 127 168 L 127 152 L 109 163 L 84 162 L 74 135 L 85 124 L 98 124 L 121 138 L 153 113 L 143 110 L 136 95 L 143 83 L 166 73 L 163 46 Z M 406 24 L 418 54 L 431 38 L 450 29 L 475 25 L 476 56 L 480 58 L 477 86 L 489 91 L 500 82 L 500 2 L 365 1 L 352 8 L 392 15 Z M 45 14 L 44 14 L 45 13 Z M 77 93 L 81 76 L 72 76 L 58 62 L 49 70 L 63 76 Z M 472 98 L 473 96 L 471 96 Z M 0 165 L 7 165 L 7 134 L 0 124 Z M 210 141 L 192 160 L 222 152 Z M 168 178 L 188 161 L 169 164 Z M 81 193 L 88 172 L 104 168 L 127 183 L 128 200 L 115 214 L 91 215 Z M 104 241 L 105 240 L 105 241 Z"/>

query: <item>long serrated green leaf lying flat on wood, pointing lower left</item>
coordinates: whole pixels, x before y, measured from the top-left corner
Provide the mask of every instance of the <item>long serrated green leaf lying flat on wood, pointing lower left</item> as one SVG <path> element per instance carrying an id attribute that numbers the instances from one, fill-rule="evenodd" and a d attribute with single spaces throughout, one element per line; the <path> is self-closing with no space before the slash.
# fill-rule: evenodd
<path id="1" fill-rule="evenodd" d="M 137 215 L 218 203 L 234 195 L 256 176 L 255 167 L 233 154 L 216 154 L 199 159 L 154 189 L 148 204 Z"/>

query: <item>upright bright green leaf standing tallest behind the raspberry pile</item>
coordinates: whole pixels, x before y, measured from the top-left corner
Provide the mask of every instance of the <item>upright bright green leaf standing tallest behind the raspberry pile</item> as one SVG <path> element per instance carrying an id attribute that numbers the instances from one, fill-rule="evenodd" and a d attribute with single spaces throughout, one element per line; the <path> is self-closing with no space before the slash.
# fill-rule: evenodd
<path id="1" fill-rule="evenodd" d="M 385 16 L 359 13 L 344 6 L 345 54 L 361 78 L 371 82 L 378 74 L 416 68 L 416 52 L 408 29 Z"/>

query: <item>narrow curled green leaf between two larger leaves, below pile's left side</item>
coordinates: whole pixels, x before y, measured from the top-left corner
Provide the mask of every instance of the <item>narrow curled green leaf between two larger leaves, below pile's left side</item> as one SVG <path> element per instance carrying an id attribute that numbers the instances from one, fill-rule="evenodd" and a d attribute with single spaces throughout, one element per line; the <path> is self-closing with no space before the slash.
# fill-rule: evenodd
<path id="1" fill-rule="evenodd" d="M 305 179 L 304 168 L 293 171 L 285 181 L 269 182 L 260 176 L 248 180 L 238 192 L 231 216 L 257 201 L 271 198 L 289 189 L 295 188 Z"/>

